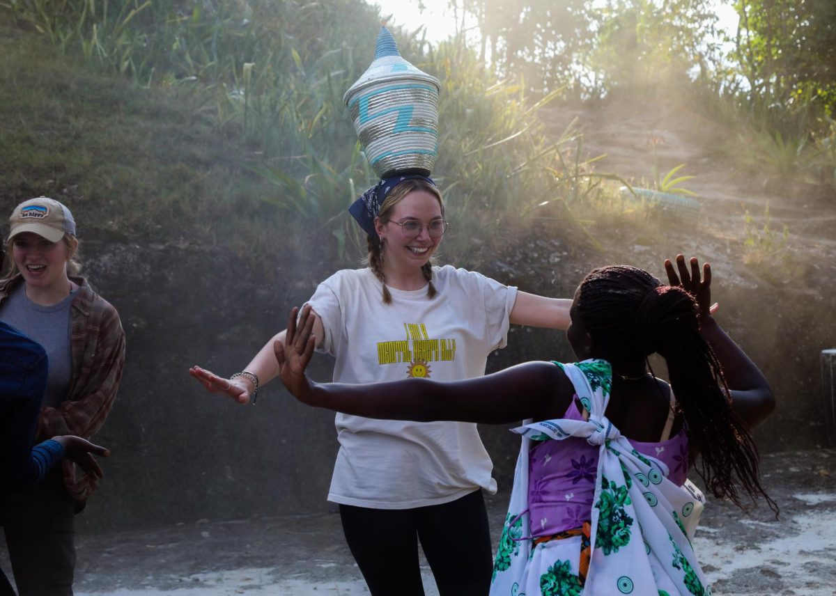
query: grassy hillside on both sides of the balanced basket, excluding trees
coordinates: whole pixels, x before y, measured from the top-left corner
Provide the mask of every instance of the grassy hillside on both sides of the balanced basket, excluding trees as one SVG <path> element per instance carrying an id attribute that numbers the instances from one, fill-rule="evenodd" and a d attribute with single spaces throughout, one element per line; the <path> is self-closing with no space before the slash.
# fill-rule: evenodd
<path id="1" fill-rule="evenodd" d="M 297 235 L 319 238 L 330 257 L 364 251 L 345 207 L 374 179 L 342 94 L 373 55 L 374 9 L 347 0 L 0 7 L 2 149 L 13 156 L 5 196 L 69 193 L 90 206 L 79 216 L 93 227 L 201 237 L 239 254 L 293 250 Z M 401 53 L 443 87 L 436 180 L 456 230 L 446 252 L 477 259 L 480 238 L 500 242 L 497 232 L 538 205 L 589 196 L 579 147 L 564 159 L 579 137 L 548 145 L 537 118 L 558 92 L 528 100 L 456 40 L 431 48 L 397 33 Z M 39 129 L 48 146 L 33 138 Z"/>

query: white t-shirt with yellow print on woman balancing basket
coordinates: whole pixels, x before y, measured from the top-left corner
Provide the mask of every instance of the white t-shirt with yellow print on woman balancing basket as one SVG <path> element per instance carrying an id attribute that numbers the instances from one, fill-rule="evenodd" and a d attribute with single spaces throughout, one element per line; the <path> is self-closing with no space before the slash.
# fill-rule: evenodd
<path id="1" fill-rule="evenodd" d="M 463 380 L 485 374 L 487 356 L 507 343 L 517 288 L 480 273 L 433 267 L 427 287 L 383 288 L 371 269 L 344 269 L 319 284 L 309 304 L 325 329 L 321 351 L 336 358 L 334 381 L 408 377 Z M 393 395 L 392 399 L 397 399 Z M 375 509 L 451 502 L 479 487 L 497 491 L 477 425 L 374 420 L 337 414 L 339 453 L 328 499 Z"/>

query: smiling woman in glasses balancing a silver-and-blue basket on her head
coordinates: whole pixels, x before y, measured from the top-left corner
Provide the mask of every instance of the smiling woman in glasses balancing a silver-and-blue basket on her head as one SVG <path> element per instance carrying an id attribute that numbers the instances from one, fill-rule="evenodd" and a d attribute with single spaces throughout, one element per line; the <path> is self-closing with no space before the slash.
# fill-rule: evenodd
<path id="1" fill-rule="evenodd" d="M 571 300 L 517 291 L 431 258 L 447 230 L 436 157 L 439 84 L 400 57 L 386 28 L 375 61 L 346 94 L 380 182 L 349 208 L 368 234 L 368 267 L 344 269 L 308 301 L 334 381 L 464 380 L 485 373 L 510 323 L 566 329 Z M 269 339 L 223 378 L 193 367 L 212 393 L 239 403 L 278 374 Z M 396 400 L 397 395 L 392 395 Z M 373 594 L 420 594 L 417 545 L 441 593 L 487 593 L 492 549 L 482 492 L 496 491 L 475 424 L 372 420 L 338 414 L 339 453 L 328 495 Z M 462 545 L 466 543 L 466 548 Z"/>

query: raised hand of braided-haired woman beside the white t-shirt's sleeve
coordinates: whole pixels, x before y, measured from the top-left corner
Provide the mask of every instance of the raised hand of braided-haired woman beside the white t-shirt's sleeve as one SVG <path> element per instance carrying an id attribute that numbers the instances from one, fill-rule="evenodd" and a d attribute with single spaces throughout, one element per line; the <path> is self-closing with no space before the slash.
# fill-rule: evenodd
<path id="1" fill-rule="evenodd" d="M 311 334 L 314 329 L 314 315 L 310 306 L 306 305 L 299 316 L 298 325 L 296 316 L 298 308 L 290 311 L 288 318 L 288 331 L 281 341 L 273 343 L 273 351 L 278 362 L 278 376 L 298 400 L 308 403 L 311 392 L 311 382 L 305 375 L 305 369 L 314 354 L 314 337 Z"/>

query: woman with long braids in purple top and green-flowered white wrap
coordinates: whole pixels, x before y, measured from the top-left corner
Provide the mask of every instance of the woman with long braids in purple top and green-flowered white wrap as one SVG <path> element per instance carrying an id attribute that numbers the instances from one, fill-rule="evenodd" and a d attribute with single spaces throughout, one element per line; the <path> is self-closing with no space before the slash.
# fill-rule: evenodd
<path id="1" fill-rule="evenodd" d="M 712 317 L 711 268 L 679 255 L 665 285 L 595 269 L 571 307 L 576 364 L 529 362 L 451 383 L 316 384 L 308 307 L 275 344 L 279 375 L 309 405 L 390 420 L 504 424 L 523 436 L 491 593 L 710 593 L 691 548 L 704 498 L 777 507 L 749 432 L 774 408 L 767 380 Z M 670 385 L 648 356 L 658 353 Z M 397 395 L 397 399 L 392 396 Z M 451 543 L 461 537 L 451 535 Z M 462 570 L 462 573 L 466 573 Z"/>

